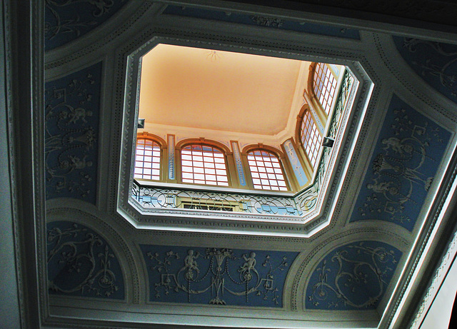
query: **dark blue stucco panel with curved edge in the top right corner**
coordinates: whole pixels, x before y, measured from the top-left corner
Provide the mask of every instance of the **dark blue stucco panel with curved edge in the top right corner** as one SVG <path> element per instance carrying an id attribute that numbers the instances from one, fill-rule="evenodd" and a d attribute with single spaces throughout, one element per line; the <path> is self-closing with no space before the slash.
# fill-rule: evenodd
<path id="1" fill-rule="evenodd" d="M 428 84 L 457 102 L 457 45 L 393 36 L 403 59 Z"/>

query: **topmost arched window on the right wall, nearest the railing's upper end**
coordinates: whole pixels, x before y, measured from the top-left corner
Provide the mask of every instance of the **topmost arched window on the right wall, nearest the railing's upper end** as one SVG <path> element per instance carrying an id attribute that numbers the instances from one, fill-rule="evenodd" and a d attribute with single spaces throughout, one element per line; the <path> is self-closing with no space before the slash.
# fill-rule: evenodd
<path id="1" fill-rule="evenodd" d="M 336 79 L 326 64 L 318 63 L 314 72 L 314 93 L 327 115 L 331 110 L 331 103 L 336 90 Z"/>

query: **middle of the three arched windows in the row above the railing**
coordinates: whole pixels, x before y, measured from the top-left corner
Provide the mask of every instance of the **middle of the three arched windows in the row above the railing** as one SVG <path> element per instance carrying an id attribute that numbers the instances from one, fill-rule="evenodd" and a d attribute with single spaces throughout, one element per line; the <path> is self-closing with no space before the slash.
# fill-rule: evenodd
<path id="1" fill-rule="evenodd" d="M 229 186 L 224 153 L 209 145 L 181 148 L 183 183 Z"/>

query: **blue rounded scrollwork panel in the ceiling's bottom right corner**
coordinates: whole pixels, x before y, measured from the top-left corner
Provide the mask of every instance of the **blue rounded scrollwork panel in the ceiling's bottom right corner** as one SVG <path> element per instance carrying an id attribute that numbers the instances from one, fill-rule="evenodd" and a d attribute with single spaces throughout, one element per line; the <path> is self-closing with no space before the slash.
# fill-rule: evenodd
<path id="1" fill-rule="evenodd" d="M 376 241 L 334 249 L 311 274 L 306 288 L 306 308 L 375 309 L 401 255 L 400 250 Z"/>

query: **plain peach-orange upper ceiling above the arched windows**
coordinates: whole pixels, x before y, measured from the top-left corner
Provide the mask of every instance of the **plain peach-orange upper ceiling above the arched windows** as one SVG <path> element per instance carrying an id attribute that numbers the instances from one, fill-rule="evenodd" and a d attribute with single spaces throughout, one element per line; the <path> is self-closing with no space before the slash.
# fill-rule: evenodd
<path id="1" fill-rule="evenodd" d="M 146 131 L 160 124 L 169 132 L 179 126 L 273 136 L 298 115 L 308 66 L 293 59 L 159 44 L 141 60 L 139 117 L 151 124 Z"/>

